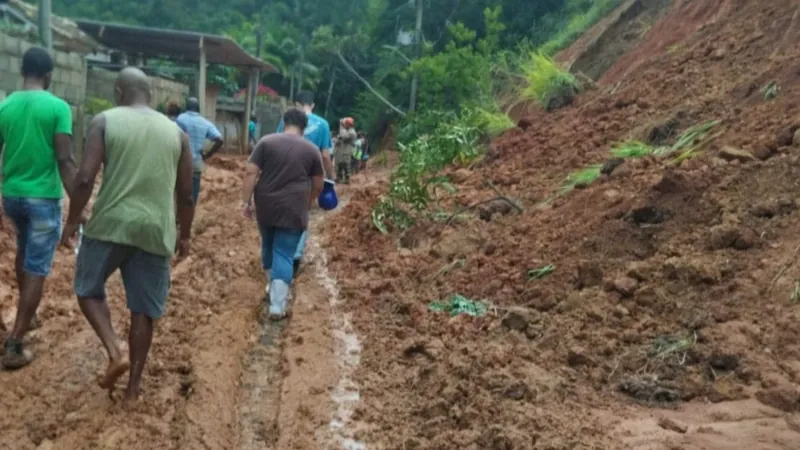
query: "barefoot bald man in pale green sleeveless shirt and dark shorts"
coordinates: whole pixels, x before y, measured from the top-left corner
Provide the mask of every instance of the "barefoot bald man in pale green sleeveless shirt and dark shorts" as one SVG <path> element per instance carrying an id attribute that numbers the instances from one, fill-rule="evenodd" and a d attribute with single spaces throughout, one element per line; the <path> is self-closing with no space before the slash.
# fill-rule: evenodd
<path id="1" fill-rule="evenodd" d="M 102 166 L 102 184 L 78 251 L 75 293 L 108 353 L 100 387 L 113 389 L 130 369 L 128 401 L 139 397 L 154 321 L 163 315 L 169 294 L 170 259 L 176 243 L 179 258 L 188 254 L 194 218 L 189 138 L 148 106 L 150 92 L 141 70 L 120 72 L 115 84 L 120 106 L 99 114 L 89 126 L 63 238 L 68 244 L 74 236 Z M 106 304 L 105 283 L 117 269 L 131 311 L 130 357 L 121 349 Z"/>

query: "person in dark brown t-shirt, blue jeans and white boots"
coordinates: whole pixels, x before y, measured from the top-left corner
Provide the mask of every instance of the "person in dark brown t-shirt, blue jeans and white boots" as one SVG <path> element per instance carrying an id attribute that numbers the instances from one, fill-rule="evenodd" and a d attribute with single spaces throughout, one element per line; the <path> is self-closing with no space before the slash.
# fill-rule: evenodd
<path id="1" fill-rule="evenodd" d="M 293 258 L 308 228 L 308 212 L 322 192 L 319 150 L 303 137 L 306 114 L 296 108 L 283 115 L 282 133 L 256 144 L 247 164 L 242 192 L 244 215 L 255 217 L 261 232 L 261 262 L 267 276 L 269 315 L 286 317 Z M 255 205 L 254 205 L 255 203 Z"/>

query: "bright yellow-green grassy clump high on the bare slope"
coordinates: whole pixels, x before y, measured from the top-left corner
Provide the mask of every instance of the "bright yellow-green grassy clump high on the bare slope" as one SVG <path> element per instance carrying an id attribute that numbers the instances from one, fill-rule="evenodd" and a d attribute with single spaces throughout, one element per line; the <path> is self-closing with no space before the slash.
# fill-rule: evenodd
<path id="1" fill-rule="evenodd" d="M 541 52 L 531 53 L 522 62 L 522 70 L 528 82 L 523 97 L 538 101 L 548 111 L 572 103 L 581 91 L 575 76 Z"/>

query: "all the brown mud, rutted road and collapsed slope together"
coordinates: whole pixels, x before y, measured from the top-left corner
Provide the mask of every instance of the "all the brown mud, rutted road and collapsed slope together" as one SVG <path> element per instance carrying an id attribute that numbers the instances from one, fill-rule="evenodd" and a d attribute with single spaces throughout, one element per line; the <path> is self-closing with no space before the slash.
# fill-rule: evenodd
<path id="1" fill-rule="evenodd" d="M 453 220 L 382 235 L 387 173 L 343 188 L 283 327 L 259 323 L 257 234 L 232 206 L 242 162 L 218 160 L 133 411 L 94 384 L 105 358 L 61 251 L 38 358 L 0 373 L 0 448 L 800 448 L 800 2 L 675 0 L 657 17 L 598 89 L 449 169 L 440 205 L 467 209 Z M 615 141 L 671 144 L 709 120 L 696 157 L 628 160 L 558 195 Z M 469 208 L 498 192 L 523 212 Z M 118 280 L 110 293 L 124 333 Z M 456 293 L 489 313 L 429 310 Z"/>

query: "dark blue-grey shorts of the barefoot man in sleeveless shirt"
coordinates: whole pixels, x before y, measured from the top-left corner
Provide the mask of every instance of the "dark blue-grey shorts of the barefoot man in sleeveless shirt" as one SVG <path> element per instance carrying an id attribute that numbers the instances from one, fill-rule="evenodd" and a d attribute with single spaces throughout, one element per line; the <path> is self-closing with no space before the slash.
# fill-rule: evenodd
<path id="1" fill-rule="evenodd" d="M 106 281 L 119 269 L 128 309 L 151 319 L 164 315 L 170 287 L 170 258 L 139 248 L 84 236 L 75 265 L 78 298 L 106 299 Z"/>

